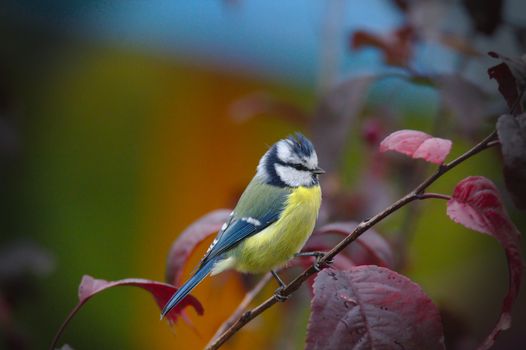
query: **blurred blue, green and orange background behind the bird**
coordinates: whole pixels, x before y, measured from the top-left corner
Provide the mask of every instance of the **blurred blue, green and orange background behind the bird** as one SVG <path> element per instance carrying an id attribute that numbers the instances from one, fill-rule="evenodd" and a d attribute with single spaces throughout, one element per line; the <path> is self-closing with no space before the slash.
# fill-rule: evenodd
<path id="1" fill-rule="evenodd" d="M 205 213 L 232 207 L 268 145 L 295 130 L 312 134 L 308 123 L 290 117 L 290 106 L 309 114 L 320 96 L 341 82 L 400 73 L 386 64 L 381 50 L 353 50 L 350 41 L 358 30 L 388 36 L 406 20 L 401 3 L 3 1 L 0 348 L 46 348 L 76 304 L 84 274 L 162 281 L 172 241 Z M 422 129 L 451 138 L 458 155 L 506 111 L 486 73 L 498 62 L 467 51 L 524 53 L 526 4 L 437 3 L 430 25 L 464 38 L 464 46 L 424 40 L 414 47 L 411 67 L 426 75 L 458 74 L 479 86 L 484 100 L 492 102 L 483 111 L 486 118 L 458 127 L 462 122 L 437 117 L 449 113 L 440 104 L 439 89 L 403 78 L 376 80 L 349 126 L 343 162 L 335 166 L 342 192 L 350 194 L 335 219 L 360 220 L 375 205 L 396 199 L 418 181 L 405 176 L 409 170 L 413 174 L 411 166 L 422 176 L 431 171 L 421 161 L 398 159 L 381 186 L 368 183 L 371 137 Z M 475 10 L 468 11 L 466 3 Z M 497 11 L 491 10 L 493 3 L 501 5 Z M 500 16 L 491 33 L 473 29 L 477 9 Z M 240 102 L 261 94 L 284 101 L 289 117 Z M 502 189 L 524 232 L 524 213 L 514 209 L 504 190 L 500 164 L 497 150 L 484 152 L 433 190 L 451 193 L 468 175 L 487 176 Z M 378 230 L 395 241 L 401 229 L 412 232 L 404 236 L 403 273 L 441 307 L 452 348 L 473 348 L 496 321 L 506 290 L 502 249 L 490 237 L 447 219 L 443 202 L 405 210 Z M 199 249 L 204 251 L 206 243 Z M 109 290 L 81 310 L 61 343 L 75 349 L 199 348 L 253 282 L 236 273 L 209 279 L 194 293 L 204 316 L 190 311 L 193 326 L 179 322 L 174 328 L 159 322 L 157 306 L 143 291 Z M 225 349 L 301 348 L 308 298 L 305 287 Z M 513 322 L 496 349 L 526 347 L 524 292 Z"/>

